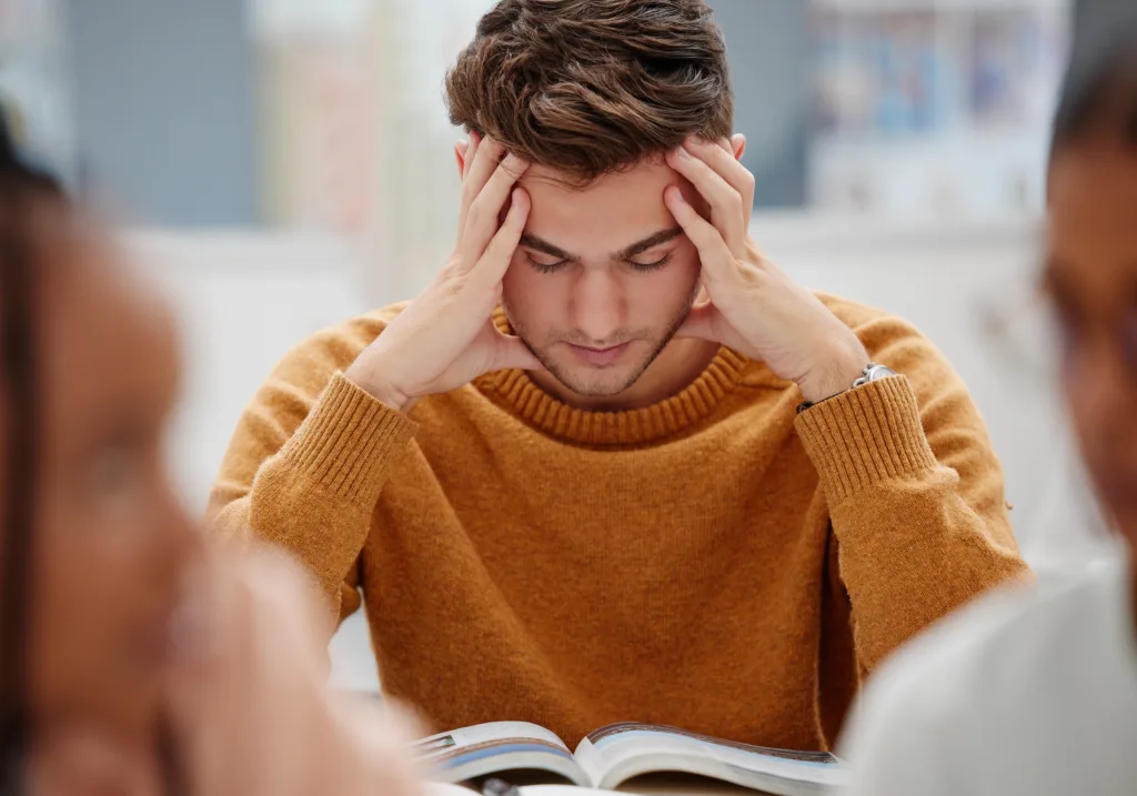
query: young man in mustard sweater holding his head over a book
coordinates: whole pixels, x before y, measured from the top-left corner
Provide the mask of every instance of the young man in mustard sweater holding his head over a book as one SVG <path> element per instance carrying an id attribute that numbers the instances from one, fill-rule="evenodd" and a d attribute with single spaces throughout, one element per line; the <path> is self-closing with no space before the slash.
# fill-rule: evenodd
<path id="1" fill-rule="evenodd" d="M 1026 571 L 966 389 L 749 238 L 702 1 L 507 0 L 447 93 L 454 255 L 284 358 L 214 520 L 340 615 L 362 589 L 384 689 L 439 728 L 827 746 L 862 674 Z"/>

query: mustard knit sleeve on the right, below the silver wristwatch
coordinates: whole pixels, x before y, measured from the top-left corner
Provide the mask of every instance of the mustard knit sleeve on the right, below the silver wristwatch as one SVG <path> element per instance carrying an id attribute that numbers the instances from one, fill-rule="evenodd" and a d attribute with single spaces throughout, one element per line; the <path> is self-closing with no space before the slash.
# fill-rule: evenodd
<path id="1" fill-rule="evenodd" d="M 822 401 L 796 425 L 820 475 L 871 670 L 906 639 L 987 589 L 1029 577 L 1003 473 L 963 381 L 897 318 L 856 330 L 902 375 Z"/>

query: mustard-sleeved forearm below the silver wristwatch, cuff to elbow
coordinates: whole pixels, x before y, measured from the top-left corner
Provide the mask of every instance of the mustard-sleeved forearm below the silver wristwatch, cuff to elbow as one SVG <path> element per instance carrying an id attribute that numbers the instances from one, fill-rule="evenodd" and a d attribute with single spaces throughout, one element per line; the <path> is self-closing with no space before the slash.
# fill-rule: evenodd
<path id="1" fill-rule="evenodd" d="M 997 467 L 973 469 L 964 490 L 960 474 L 937 461 L 905 380 L 820 404 L 798 418 L 798 431 L 829 500 L 862 665 L 1027 574 Z"/>

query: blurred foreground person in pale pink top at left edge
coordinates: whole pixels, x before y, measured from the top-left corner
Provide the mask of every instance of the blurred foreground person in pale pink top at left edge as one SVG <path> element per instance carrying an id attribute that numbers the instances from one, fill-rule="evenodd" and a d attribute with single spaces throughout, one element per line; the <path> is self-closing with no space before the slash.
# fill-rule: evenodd
<path id="1" fill-rule="evenodd" d="M 177 505 L 165 307 L 0 144 L 0 793 L 415 793 L 388 720 L 325 691 L 304 571 Z"/>

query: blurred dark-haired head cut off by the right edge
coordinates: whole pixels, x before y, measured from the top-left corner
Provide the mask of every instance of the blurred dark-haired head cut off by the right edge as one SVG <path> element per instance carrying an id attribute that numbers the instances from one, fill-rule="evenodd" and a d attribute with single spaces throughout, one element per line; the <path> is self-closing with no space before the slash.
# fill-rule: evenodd
<path id="1" fill-rule="evenodd" d="M 1106 511 L 1137 547 L 1137 28 L 1076 60 L 1054 125 L 1044 284 Z"/>

